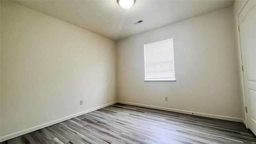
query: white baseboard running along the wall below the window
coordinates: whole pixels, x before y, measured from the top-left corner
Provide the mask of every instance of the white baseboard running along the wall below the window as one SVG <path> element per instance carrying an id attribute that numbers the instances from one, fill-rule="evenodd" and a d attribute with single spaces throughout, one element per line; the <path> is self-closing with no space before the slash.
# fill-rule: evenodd
<path id="1" fill-rule="evenodd" d="M 201 112 L 178 110 L 178 109 L 174 109 L 174 108 L 164 108 L 164 107 L 160 107 L 160 106 L 150 106 L 150 105 L 146 105 L 146 104 L 137 104 L 137 103 L 132 103 L 132 102 L 117 101 L 117 103 L 129 104 L 132 106 L 141 106 L 141 107 L 153 108 L 153 109 L 157 109 L 157 110 L 166 110 L 166 111 L 170 111 L 170 112 L 178 112 L 178 113 L 182 113 L 182 114 L 190 114 L 190 115 L 195 115 L 195 116 L 203 116 L 203 117 L 207 117 L 207 118 L 216 118 L 216 119 L 220 119 L 220 120 L 229 120 L 229 121 L 233 121 L 233 122 L 243 122 L 244 123 L 244 120 L 242 118 L 236 118 L 236 117 L 230 117 L 230 116 L 220 116 L 220 115 L 216 115 L 216 114 L 206 114 L 206 113 L 201 113 Z"/>

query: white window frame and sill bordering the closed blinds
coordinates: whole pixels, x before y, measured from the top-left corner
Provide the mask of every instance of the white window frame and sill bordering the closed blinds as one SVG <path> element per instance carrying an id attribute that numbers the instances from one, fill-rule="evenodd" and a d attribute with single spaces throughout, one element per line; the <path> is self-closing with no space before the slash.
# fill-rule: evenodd
<path id="1" fill-rule="evenodd" d="M 173 42 L 173 38 L 168 38 L 165 40 L 160 40 L 157 42 L 162 42 L 162 41 L 166 41 L 166 40 L 171 40 L 172 39 L 172 44 L 173 44 L 173 60 L 174 60 L 174 42 Z M 154 44 L 156 42 L 150 42 L 148 44 Z M 144 44 L 144 82 L 176 82 L 176 76 L 175 76 L 175 68 L 174 68 L 174 78 L 151 78 L 151 79 L 146 79 L 146 56 L 145 56 L 145 45 L 148 44 Z M 174 64 L 175 67 L 175 64 Z"/>

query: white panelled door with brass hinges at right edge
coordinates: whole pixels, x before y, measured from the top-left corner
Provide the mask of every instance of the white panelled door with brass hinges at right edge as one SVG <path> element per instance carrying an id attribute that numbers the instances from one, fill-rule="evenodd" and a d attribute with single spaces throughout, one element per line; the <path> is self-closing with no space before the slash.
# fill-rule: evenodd
<path id="1" fill-rule="evenodd" d="M 248 0 L 238 15 L 244 67 L 248 127 L 256 134 L 256 0 Z"/>

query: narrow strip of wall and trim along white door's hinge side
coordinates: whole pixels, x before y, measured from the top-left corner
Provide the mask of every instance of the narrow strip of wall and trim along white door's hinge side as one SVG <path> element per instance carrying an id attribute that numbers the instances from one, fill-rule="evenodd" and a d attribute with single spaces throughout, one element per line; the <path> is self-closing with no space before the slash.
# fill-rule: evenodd
<path id="1" fill-rule="evenodd" d="M 234 31 L 235 31 L 235 38 L 236 38 L 236 53 L 238 58 L 238 73 L 239 73 L 239 82 L 240 82 L 240 95 L 241 95 L 241 109 L 242 109 L 242 119 L 244 120 L 244 124 L 247 127 L 247 114 L 245 112 L 246 100 L 244 94 L 244 77 L 241 66 L 242 64 L 242 57 L 241 57 L 241 49 L 240 49 L 240 37 L 239 32 L 237 30 L 238 26 L 238 14 L 241 12 L 242 8 L 246 4 L 247 0 L 235 0 L 233 4 L 233 18 L 234 18 Z"/>

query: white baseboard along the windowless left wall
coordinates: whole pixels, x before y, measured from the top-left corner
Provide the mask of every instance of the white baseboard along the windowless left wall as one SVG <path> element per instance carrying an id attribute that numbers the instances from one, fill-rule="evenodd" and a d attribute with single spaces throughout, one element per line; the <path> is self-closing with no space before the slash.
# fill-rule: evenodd
<path id="1" fill-rule="evenodd" d="M 116 104 L 116 103 L 117 103 L 117 101 L 115 101 L 115 102 L 110 102 L 110 103 L 108 103 L 108 104 L 104 104 L 104 105 L 102 105 L 102 106 L 98 106 L 98 107 L 96 107 L 96 108 L 92 108 L 92 109 L 90 109 L 90 110 L 85 110 L 85 111 L 83 111 L 83 112 L 79 112 L 79 113 L 76 113 L 76 114 L 72 114 L 72 115 L 70 115 L 70 116 L 66 116 L 66 117 L 64 117 L 64 118 L 60 118 L 60 119 L 58 119 L 58 120 L 54 120 L 54 121 L 51 121 L 51 122 L 47 122 L 47 123 L 45 123 L 45 124 L 40 124 L 40 125 L 38 125 L 38 126 L 34 126 L 34 127 L 32 127 L 32 128 L 28 128 L 28 129 L 26 129 L 26 130 L 21 130 L 21 131 L 19 131 L 19 132 L 14 132 L 14 133 L 12 133 L 12 134 L 8 134 L 8 135 L 6 135 L 6 136 L 2 136 L 2 137 L 0 137 L 0 142 L 4 142 L 4 141 L 6 141 L 6 140 L 10 140 L 10 139 L 12 139 L 12 138 L 15 138 L 15 137 L 17 137 L 17 136 L 21 136 L 21 135 L 23 135 L 23 134 L 28 134 L 28 133 L 30 133 L 30 132 L 34 132 L 35 130 L 40 130 L 41 128 L 46 128 L 46 127 L 51 126 L 51 125 L 53 125 L 53 124 L 58 124 L 58 123 L 63 122 L 63 121 L 65 121 L 65 120 L 69 120 L 69 119 L 71 119 L 71 118 L 74 118 L 74 117 L 77 117 L 77 116 L 81 116 L 81 115 L 86 114 L 86 113 L 88 113 L 88 112 L 92 112 L 92 111 L 94 111 L 94 110 L 98 110 L 98 109 L 100 109 L 100 108 L 104 108 L 104 107 L 106 107 L 106 106 L 110 106 L 110 105 Z"/>

